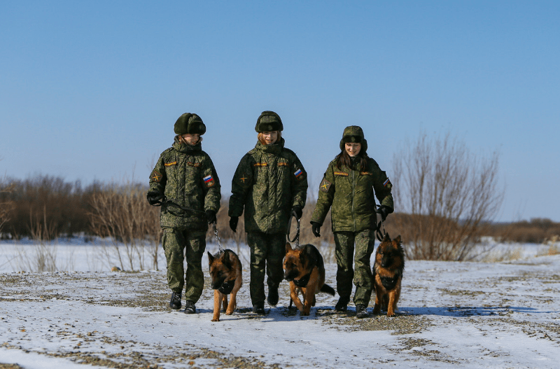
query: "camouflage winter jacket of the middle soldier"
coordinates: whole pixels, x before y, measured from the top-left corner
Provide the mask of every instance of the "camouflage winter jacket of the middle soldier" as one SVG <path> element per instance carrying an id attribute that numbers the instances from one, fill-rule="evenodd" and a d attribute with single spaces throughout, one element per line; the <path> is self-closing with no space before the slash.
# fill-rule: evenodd
<path id="1" fill-rule="evenodd" d="M 297 155 L 278 144 L 262 145 L 241 158 L 232 179 L 230 216 L 245 209 L 245 231 L 277 234 L 286 232 L 290 210 L 305 206 L 307 173 Z"/>

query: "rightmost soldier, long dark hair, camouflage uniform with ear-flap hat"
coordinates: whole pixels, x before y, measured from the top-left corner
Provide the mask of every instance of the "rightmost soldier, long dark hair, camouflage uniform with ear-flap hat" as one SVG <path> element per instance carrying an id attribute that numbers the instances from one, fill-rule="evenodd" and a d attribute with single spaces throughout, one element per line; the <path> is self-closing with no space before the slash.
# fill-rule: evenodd
<path id="1" fill-rule="evenodd" d="M 392 185 L 377 162 L 367 156 L 367 141 L 360 127 L 353 125 L 344 129 L 340 150 L 335 160 L 329 163 L 319 186 L 317 204 L 311 216 L 311 229 L 319 237 L 321 225 L 331 209 L 338 266 L 337 291 L 340 296 L 335 309 L 346 311 L 353 279 L 356 285 L 353 298 L 356 316 L 365 317 L 373 290 L 370 257 L 377 225 L 374 190 L 381 203 L 379 213 L 385 220 L 387 214 L 393 212 Z"/>

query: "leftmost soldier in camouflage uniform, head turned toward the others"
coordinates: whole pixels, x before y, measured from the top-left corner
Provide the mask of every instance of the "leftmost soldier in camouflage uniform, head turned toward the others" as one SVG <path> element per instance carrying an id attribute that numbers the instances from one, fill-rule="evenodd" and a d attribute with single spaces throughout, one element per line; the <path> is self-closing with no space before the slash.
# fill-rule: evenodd
<path id="1" fill-rule="evenodd" d="M 220 209 L 220 181 L 212 160 L 202 151 L 201 136 L 206 132 L 202 119 L 184 113 L 174 130 L 173 146 L 160 155 L 150 176 L 148 202 L 162 207 L 162 246 L 167 258 L 167 285 L 172 290 L 169 307 L 181 309 L 186 286 L 185 312 L 193 314 L 204 288 L 202 256 L 208 225 L 216 222 Z"/>

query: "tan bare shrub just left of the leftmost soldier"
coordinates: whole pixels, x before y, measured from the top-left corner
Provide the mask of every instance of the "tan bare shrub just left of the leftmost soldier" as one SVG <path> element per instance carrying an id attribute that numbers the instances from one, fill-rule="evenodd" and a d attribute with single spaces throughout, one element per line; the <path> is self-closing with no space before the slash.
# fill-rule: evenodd
<path id="1" fill-rule="evenodd" d="M 145 270 L 148 265 L 158 268 L 160 210 L 148 204 L 146 190 L 132 181 L 111 183 L 91 198 L 91 229 L 109 239 L 112 253 L 104 250 L 109 265 L 114 254 L 122 270 Z M 146 253 L 150 260 L 146 260 Z"/>

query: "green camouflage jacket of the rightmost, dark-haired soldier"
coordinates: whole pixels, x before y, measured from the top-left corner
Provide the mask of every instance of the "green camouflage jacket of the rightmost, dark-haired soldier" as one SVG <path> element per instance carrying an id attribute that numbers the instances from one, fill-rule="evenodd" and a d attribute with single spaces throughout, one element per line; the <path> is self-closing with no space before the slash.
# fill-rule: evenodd
<path id="1" fill-rule="evenodd" d="M 331 209 L 332 231 L 375 229 L 375 195 L 381 205 L 393 209 L 391 181 L 372 158 L 367 159 L 367 167 L 360 168 L 356 160 L 356 170 L 337 168 L 336 160 L 329 163 L 327 172 L 319 186 L 317 204 L 311 221 L 323 225 L 329 208 Z"/>

